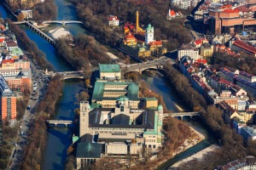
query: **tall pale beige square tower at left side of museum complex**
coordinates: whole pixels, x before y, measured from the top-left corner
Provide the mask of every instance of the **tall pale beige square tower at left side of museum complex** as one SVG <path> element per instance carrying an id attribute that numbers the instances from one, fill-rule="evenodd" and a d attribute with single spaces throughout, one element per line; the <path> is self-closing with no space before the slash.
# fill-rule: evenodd
<path id="1" fill-rule="evenodd" d="M 89 133 L 89 112 L 90 105 L 88 101 L 80 101 L 80 124 L 79 137 Z"/>

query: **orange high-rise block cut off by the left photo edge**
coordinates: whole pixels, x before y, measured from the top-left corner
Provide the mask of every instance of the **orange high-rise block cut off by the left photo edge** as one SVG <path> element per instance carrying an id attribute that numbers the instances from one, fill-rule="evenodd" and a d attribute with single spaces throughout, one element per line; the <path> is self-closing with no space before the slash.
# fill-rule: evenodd
<path id="1" fill-rule="evenodd" d="M 1 95 L 1 118 L 2 121 L 9 121 L 13 124 L 16 121 L 16 97 L 0 75 L 0 95 Z"/>

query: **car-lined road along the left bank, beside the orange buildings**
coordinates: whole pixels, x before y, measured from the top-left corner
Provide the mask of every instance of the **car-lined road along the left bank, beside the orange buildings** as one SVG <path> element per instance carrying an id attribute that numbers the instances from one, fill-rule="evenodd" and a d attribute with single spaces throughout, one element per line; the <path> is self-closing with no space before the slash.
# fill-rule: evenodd
<path id="1" fill-rule="evenodd" d="M 43 96 L 49 81 L 49 79 L 44 76 L 44 73 L 42 73 L 41 70 L 38 70 L 37 65 L 32 63 L 32 61 L 30 61 L 30 64 L 32 68 L 32 84 L 35 85 L 35 88 L 37 89 L 33 90 L 33 87 L 32 87 L 32 94 L 28 101 L 28 105 L 30 105 L 31 109 L 30 110 L 26 109 L 23 118 L 20 120 L 20 129 L 15 141 L 15 148 L 12 152 L 12 155 L 10 156 L 11 163 L 9 164 L 9 169 L 11 170 L 19 169 L 18 165 L 20 164 L 20 161 L 23 160 L 22 152 L 23 152 L 24 146 L 27 144 L 26 135 L 29 128 L 32 126 L 33 119 L 36 116 L 35 115 L 36 107 L 39 101 L 43 99 Z M 23 132 L 24 134 L 21 135 L 21 132 Z"/>

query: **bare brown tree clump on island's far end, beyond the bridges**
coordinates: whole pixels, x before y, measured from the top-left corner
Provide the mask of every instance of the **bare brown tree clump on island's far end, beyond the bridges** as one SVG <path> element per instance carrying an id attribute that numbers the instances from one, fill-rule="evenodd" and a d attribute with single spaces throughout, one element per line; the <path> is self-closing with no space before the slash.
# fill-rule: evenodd
<path id="1" fill-rule="evenodd" d="M 71 43 L 73 47 L 70 46 Z M 79 34 L 74 37 L 74 42 L 60 38 L 55 42 L 58 54 L 67 60 L 73 68 L 84 71 L 85 79 L 90 79 L 93 67 L 99 63 L 111 63 L 107 53 L 107 48 L 104 48 L 94 37 Z"/>

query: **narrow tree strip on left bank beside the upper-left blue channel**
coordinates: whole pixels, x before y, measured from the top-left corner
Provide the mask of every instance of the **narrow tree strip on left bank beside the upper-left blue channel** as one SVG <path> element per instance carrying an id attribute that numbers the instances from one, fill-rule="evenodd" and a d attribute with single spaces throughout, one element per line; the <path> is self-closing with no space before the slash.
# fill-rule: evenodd
<path id="1" fill-rule="evenodd" d="M 13 24 L 11 20 L 7 19 L 6 21 L 9 24 L 9 30 L 15 33 L 19 47 L 25 50 L 38 63 L 41 69 L 47 68 L 49 71 L 53 71 L 54 67 L 46 59 L 45 54 L 38 49 L 37 44 L 26 36 L 26 32 Z"/>

